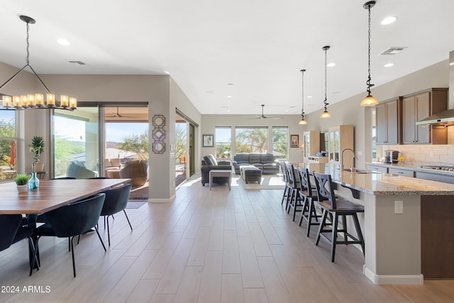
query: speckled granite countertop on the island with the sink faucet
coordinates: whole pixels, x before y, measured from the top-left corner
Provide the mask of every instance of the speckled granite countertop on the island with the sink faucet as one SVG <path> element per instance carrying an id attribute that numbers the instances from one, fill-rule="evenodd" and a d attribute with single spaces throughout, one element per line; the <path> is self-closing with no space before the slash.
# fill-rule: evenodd
<path id="1" fill-rule="evenodd" d="M 380 172 L 355 173 L 340 170 L 339 165 L 330 163 L 301 163 L 309 172 L 316 171 L 330 174 L 333 182 L 344 187 L 356 189 L 373 195 L 454 195 L 454 184 L 435 182 L 401 175 L 384 174 Z"/>

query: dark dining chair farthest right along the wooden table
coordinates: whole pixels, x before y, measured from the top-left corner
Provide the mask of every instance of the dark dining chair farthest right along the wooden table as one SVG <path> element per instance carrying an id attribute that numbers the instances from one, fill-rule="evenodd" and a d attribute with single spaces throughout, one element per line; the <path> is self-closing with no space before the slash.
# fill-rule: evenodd
<path id="1" fill-rule="evenodd" d="M 114 214 L 123 211 L 126 220 L 128 220 L 129 227 L 131 231 L 133 226 L 129 221 L 128 214 L 126 214 L 126 204 L 128 204 L 129 193 L 131 192 L 131 184 L 125 184 L 121 187 L 114 187 L 104 192 L 106 194 L 106 199 L 104 201 L 104 206 L 102 207 L 101 216 L 104 216 L 104 228 L 106 226 L 107 219 L 107 238 L 109 239 L 109 246 L 111 245 L 111 232 L 109 228 L 109 216 L 114 216 Z"/>

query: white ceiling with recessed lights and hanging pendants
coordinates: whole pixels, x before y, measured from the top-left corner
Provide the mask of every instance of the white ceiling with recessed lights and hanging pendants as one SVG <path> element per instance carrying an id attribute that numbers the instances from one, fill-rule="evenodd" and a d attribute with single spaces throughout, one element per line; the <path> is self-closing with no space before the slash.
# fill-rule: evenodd
<path id="1" fill-rule="evenodd" d="M 38 74 L 165 75 L 201 114 L 301 114 L 365 92 L 365 0 L 2 0 L 0 61 Z M 388 26 L 387 16 L 397 16 Z M 448 59 L 453 0 L 377 0 L 372 8 L 372 83 Z M 65 38 L 71 45 L 56 43 Z M 397 55 L 380 55 L 404 46 Z M 70 63 L 79 60 L 87 65 Z M 394 67 L 383 67 L 394 62 Z M 6 81 L 6 79 L 0 79 Z M 233 85 L 228 85 L 233 84 Z M 52 88 L 50 88 L 52 89 Z M 372 89 L 373 94 L 373 89 Z M 227 96 L 231 96 L 228 98 Z M 312 96 L 312 98 L 309 98 Z M 83 100 L 80 100 L 83 101 Z"/>

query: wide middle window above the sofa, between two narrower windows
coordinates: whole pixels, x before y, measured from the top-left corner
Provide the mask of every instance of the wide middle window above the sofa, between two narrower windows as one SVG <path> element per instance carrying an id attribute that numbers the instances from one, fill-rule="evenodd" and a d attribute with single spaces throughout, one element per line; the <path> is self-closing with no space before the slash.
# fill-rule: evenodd
<path id="1" fill-rule="evenodd" d="M 236 153 L 267 153 L 268 128 L 236 128 Z"/>

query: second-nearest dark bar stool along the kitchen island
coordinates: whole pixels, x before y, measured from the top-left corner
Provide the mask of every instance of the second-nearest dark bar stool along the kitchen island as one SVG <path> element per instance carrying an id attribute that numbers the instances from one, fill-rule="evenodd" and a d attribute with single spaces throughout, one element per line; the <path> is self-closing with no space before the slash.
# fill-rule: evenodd
<path id="1" fill-rule="evenodd" d="M 301 216 L 299 217 L 299 226 L 303 219 L 307 221 L 306 236 L 309 237 L 311 232 L 311 225 L 320 225 L 321 215 L 317 214 L 314 201 L 318 199 L 316 187 L 311 184 L 309 177 L 309 170 L 307 168 L 297 167 L 299 182 L 301 182 L 301 189 L 299 190 L 299 197 L 301 197 L 302 208 Z"/>

